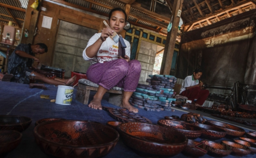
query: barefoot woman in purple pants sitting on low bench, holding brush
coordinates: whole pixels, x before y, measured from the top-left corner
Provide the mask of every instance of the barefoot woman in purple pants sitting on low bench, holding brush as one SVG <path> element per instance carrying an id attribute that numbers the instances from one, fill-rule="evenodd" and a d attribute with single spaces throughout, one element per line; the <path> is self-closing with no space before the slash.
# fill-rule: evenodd
<path id="1" fill-rule="evenodd" d="M 110 35 L 113 32 L 119 35 L 125 27 L 127 15 L 121 8 L 113 8 L 109 14 L 110 28 L 103 28 L 101 33 L 94 34 L 83 51 L 86 61 L 90 60 L 87 70 L 87 79 L 99 84 L 98 91 L 88 107 L 102 110 L 101 100 L 103 95 L 112 87 L 123 87 L 124 94 L 121 107 L 134 113 L 138 109 L 131 106 L 129 99 L 136 90 L 140 79 L 141 65 L 137 60 L 130 61 L 130 43 L 124 39 L 125 58 L 118 56 L 118 43 L 114 42 Z"/>

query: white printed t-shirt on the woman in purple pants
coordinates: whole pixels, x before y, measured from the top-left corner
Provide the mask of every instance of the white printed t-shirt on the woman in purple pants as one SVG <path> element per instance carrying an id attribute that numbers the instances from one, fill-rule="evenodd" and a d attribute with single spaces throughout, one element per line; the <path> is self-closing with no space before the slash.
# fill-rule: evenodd
<path id="1" fill-rule="evenodd" d="M 96 56 L 94 56 L 93 58 L 89 58 L 86 54 L 85 51 L 86 49 L 90 46 L 93 45 L 94 42 L 96 42 L 96 40 L 98 40 L 101 36 L 101 33 L 96 33 L 93 35 L 93 37 L 90 38 L 89 42 L 87 43 L 86 48 L 83 51 L 83 57 L 84 60 L 86 61 L 90 61 L 90 65 L 93 65 L 95 63 L 104 63 L 104 62 L 109 62 L 111 60 L 115 60 L 118 59 L 118 43 L 114 42 L 110 37 L 108 37 L 101 45 L 101 47 L 99 48 L 99 51 L 97 53 Z M 125 40 L 125 55 L 127 56 L 131 56 L 131 45 L 130 43 Z"/>

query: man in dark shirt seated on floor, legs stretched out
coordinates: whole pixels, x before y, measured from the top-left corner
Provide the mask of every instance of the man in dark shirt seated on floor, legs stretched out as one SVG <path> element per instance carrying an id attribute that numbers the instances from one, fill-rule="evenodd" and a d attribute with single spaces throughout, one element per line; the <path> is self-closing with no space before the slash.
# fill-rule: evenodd
<path id="1" fill-rule="evenodd" d="M 8 60 L 8 73 L 13 74 L 15 79 L 24 78 L 24 83 L 29 84 L 29 75 L 34 73 L 35 80 L 39 80 L 51 85 L 70 85 L 76 80 L 76 76 L 70 79 L 49 79 L 41 73 L 37 73 L 29 69 L 32 67 L 32 63 L 40 62 L 35 54 L 44 54 L 48 51 L 47 45 L 44 43 L 38 43 L 35 45 L 31 44 L 20 44 L 17 45 L 15 50 L 9 56 Z"/>

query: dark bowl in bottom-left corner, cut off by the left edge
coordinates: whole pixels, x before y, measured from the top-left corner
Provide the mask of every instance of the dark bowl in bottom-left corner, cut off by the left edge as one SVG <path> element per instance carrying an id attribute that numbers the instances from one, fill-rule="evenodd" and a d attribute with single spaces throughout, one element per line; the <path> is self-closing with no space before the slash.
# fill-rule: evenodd
<path id="1" fill-rule="evenodd" d="M 14 150 L 21 141 L 22 134 L 15 130 L 0 130 L 0 157 Z"/>

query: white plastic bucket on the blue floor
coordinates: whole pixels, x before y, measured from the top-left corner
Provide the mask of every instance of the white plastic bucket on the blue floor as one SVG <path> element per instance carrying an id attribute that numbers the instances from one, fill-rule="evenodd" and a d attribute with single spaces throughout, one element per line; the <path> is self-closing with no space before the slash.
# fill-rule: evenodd
<path id="1" fill-rule="evenodd" d="M 74 87 L 58 85 L 56 104 L 71 105 Z"/>

